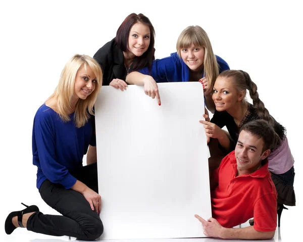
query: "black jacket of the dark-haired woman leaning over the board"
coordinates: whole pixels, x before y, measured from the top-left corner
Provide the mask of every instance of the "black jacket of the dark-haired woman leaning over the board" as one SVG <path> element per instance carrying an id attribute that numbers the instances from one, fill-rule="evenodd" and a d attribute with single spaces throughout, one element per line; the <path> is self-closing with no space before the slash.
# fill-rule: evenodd
<path id="1" fill-rule="evenodd" d="M 115 38 L 107 42 L 102 46 L 93 58 L 99 63 L 103 71 L 103 83 L 102 85 L 107 86 L 110 82 L 115 79 L 121 79 L 125 81 L 127 70 L 124 65 L 123 51 L 119 49 Z M 129 72 L 132 69 L 130 66 Z"/>

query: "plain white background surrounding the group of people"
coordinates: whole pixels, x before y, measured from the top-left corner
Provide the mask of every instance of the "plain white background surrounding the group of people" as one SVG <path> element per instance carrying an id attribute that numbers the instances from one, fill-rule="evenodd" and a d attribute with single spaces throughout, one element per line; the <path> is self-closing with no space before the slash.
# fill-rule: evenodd
<path id="1" fill-rule="evenodd" d="M 248 72 L 258 85 L 261 100 L 287 128 L 295 159 L 297 206 L 283 211 L 281 236 L 297 238 L 303 193 L 299 1 L 1 1 L 0 11 L 0 228 L 10 211 L 22 208 L 20 202 L 55 213 L 35 188 L 34 114 L 54 91 L 67 60 L 76 53 L 93 56 L 134 12 L 146 15 L 155 27 L 156 58 L 176 51 L 185 27 L 200 25 L 214 53 L 232 69 Z"/>

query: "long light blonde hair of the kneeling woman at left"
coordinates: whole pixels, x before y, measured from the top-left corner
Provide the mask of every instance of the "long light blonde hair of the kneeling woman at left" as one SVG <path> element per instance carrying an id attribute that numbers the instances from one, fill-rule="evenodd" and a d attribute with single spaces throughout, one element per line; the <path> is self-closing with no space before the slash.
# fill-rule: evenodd
<path id="1" fill-rule="evenodd" d="M 47 99 L 54 98 L 57 101 L 57 112 L 60 118 L 64 122 L 70 121 L 69 114 L 72 110 L 71 100 L 74 95 L 76 74 L 82 65 L 85 70 L 88 66 L 93 71 L 97 81 L 93 92 L 85 100 L 79 99 L 76 104 L 74 122 L 78 128 L 85 125 L 90 115 L 94 115 L 93 106 L 102 86 L 102 70 L 94 59 L 86 55 L 74 55 L 63 68 L 54 93 Z"/>

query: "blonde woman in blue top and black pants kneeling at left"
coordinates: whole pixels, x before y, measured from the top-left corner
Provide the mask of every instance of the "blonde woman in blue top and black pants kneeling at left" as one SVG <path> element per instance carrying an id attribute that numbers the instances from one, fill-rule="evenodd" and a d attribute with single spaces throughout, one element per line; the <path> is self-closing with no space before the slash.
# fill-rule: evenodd
<path id="1" fill-rule="evenodd" d="M 55 92 L 38 109 L 32 133 L 33 164 L 41 198 L 61 215 L 42 214 L 35 205 L 9 214 L 5 231 L 17 227 L 55 236 L 93 240 L 103 233 L 97 167 L 87 157 L 95 146 L 93 106 L 102 86 L 102 70 L 89 56 L 74 55 L 65 65 Z"/>

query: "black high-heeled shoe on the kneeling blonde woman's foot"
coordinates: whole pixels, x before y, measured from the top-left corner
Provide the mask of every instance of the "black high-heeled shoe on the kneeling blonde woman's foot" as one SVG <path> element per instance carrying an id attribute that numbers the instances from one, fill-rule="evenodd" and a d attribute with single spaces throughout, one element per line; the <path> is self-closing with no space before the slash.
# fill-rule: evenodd
<path id="1" fill-rule="evenodd" d="M 21 204 L 24 205 L 26 207 L 26 209 L 23 209 L 21 211 L 11 212 L 9 214 L 9 216 L 7 217 L 7 219 L 5 220 L 5 232 L 7 234 L 11 234 L 16 229 L 15 225 L 12 222 L 13 217 L 18 216 L 18 224 L 21 228 L 24 228 L 24 226 L 22 224 L 23 214 L 39 212 L 39 208 L 36 205 L 27 206 L 24 203 L 21 203 Z"/>

